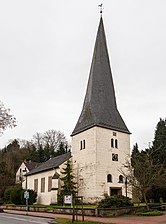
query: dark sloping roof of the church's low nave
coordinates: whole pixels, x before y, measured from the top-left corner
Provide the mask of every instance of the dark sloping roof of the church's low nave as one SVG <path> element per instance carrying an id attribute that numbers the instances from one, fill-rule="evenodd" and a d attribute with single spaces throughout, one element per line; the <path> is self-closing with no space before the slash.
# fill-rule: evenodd
<path id="1" fill-rule="evenodd" d="M 44 163 L 41 163 L 41 165 L 39 165 L 37 168 L 33 169 L 26 175 L 30 176 L 30 175 L 33 175 L 36 173 L 40 173 L 40 172 L 44 172 L 47 170 L 52 170 L 54 168 L 58 168 L 62 163 L 66 162 L 70 158 L 71 158 L 70 152 L 60 155 L 60 156 L 57 156 L 57 157 L 54 157 L 52 159 L 47 160 Z"/>

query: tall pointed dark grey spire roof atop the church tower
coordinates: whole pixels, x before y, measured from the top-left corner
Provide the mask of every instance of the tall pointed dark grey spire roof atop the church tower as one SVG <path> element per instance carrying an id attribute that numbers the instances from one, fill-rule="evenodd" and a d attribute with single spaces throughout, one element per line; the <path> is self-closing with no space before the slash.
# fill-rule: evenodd
<path id="1" fill-rule="evenodd" d="M 82 112 L 72 136 L 94 126 L 130 133 L 116 105 L 102 17 L 98 27 Z"/>

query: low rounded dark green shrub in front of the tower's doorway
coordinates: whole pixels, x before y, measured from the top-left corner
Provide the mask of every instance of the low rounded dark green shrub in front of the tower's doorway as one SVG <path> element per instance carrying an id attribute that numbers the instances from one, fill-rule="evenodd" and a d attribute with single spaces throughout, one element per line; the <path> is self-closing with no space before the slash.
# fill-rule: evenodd
<path id="1" fill-rule="evenodd" d="M 119 195 L 105 196 L 98 204 L 98 208 L 120 208 L 128 206 L 133 206 L 131 199 Z"/>

